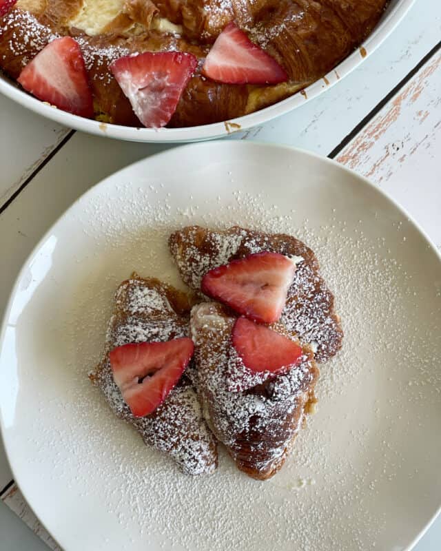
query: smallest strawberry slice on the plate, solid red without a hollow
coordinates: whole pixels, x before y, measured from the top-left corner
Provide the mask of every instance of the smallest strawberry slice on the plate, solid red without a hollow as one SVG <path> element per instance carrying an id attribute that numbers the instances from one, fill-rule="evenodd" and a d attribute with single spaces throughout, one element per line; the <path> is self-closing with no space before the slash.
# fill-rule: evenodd
<path id="1" fill-rule="evenodd" d="M 245 366 L 257 373 L 287 373 L 302 358 L 302 348 L 296 342 L 247 318 L 236 320 L 232 340 Z"/>

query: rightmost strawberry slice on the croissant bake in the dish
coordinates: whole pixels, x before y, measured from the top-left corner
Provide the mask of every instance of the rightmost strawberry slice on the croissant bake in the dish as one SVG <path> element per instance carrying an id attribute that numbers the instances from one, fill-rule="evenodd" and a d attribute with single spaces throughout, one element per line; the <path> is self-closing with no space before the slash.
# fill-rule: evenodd
<path id="1" fill-rule="evenodd" d="M 202 72 L 209 79 L 228 84 L 278 84 L 288 80 L 277 61 L 235 23 L 228 23 L 219 34 Z"/>

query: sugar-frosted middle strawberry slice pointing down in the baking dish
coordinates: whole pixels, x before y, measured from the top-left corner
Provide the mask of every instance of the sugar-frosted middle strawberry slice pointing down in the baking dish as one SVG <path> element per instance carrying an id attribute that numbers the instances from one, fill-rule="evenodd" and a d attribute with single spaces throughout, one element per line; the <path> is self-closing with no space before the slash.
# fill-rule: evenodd
<path id="1" fill-rule="evenodd" d="M 172 118 L 197 64 L 193 54 L 145 52 L 117 59 L 110 70 L 141 123 L 159 128 Z"/>

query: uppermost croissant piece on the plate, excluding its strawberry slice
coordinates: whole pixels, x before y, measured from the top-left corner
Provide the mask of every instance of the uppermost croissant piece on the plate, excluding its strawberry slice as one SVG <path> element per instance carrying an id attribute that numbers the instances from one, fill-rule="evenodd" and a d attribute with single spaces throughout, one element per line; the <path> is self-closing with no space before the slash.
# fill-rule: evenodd
<path id="1" fill-rule="evenodd" d="M 317 362 L 326 362 L 340 349 L 343 332 L 334 311 L 334 295 L 320 276 L 314 252 L 300 240 L 238 226 L 225 231 L 189 226 L 172 233 L 169 246 L 181 278 L 198 292 L 209 270 L 231 260 L 260 251 L 294 258 L 296 271 L 280 322 L 302 343 L 311 344 Z"/>

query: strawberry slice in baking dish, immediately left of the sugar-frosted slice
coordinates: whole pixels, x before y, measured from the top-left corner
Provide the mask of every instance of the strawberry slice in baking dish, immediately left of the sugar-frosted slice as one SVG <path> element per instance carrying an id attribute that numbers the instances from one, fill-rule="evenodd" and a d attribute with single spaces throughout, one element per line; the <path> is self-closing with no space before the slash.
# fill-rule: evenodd
<path id="1" fill-rule="evenodd" d="M 74 115 L 92 117 L 92 91 L 79 44 L 71 37 L 50 42 L 17 79 L 33 96 Z"/>

